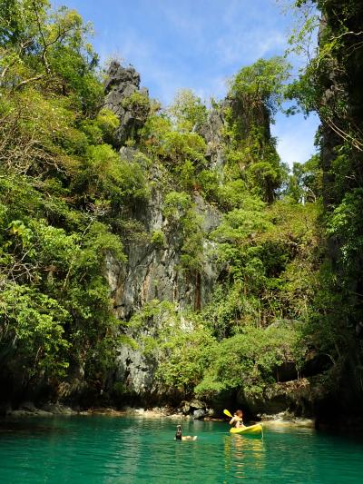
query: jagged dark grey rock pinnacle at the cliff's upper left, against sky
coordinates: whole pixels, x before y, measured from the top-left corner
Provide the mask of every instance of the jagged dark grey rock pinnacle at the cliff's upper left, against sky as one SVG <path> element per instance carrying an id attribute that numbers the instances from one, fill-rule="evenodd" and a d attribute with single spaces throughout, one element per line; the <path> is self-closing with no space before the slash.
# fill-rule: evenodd
<path id="1" fill-rule="evenodd" d="M 128 138 L 137 138 L 137 132 L 149 114 L 149 93 L 144 87 L 140 89 L 140 74 L 132 66 L 123 67 L 116 61 L 110 64 L 104 92 L 104 107 L 113 111 L 120 119 L 116 133 L 116 141 L 120 147 Z M 140 94 L 143 103 L 129 102 L 130 96 L 135 93 Z"/>

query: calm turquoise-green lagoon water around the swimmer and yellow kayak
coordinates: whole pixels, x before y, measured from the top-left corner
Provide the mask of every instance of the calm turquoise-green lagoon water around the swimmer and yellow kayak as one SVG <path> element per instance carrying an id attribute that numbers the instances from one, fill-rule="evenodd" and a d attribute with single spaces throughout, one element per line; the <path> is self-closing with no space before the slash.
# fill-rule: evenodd
<path id="1" fill-rule="evenodd" d="M 176 420 L 109 416 L 0 422 L 0 482 L 363 482 L 363 441 L 315 430 L 230 436 L 220 422 L 182 422 L 194 442 L 175 441 Z"/>

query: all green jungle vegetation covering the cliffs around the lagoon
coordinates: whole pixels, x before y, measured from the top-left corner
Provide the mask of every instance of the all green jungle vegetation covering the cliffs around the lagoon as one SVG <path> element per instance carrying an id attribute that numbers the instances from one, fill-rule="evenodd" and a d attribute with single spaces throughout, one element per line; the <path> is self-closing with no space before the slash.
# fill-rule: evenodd
<path id="1" fill-rule="evenodd" d="M 185 398 L 224 390 L 260 395 L 276 382 L 280 364 L 295 361 L 299 369 L 310 353 L 329 355 L 327 385 L 338 385 L 337 371 L 344 375 L 348 361 L 358 381 L 363 103 L 352 75 L 354 59 L 362 59 L 361 6 L 294 4 L 304 23 L 291 49 L 304 49 L 322 14 L 319 46 L 294 82 L 284 57 L 260 59 L 231 79 L 231 103 L 213 102 L 225 120 L 221 170 L 211 167 L 201 135 L 213 106 L 190 91 L 168 108 L 130 98 L 136 108 L 150 103 L 137 138 L 126 141 L 143 157 L 142 170 L 117 152 L 119 120 L 103 108 L 91 26 L 48 0 L 0 1 L 3 376 L 25 388 L 46 381 L 57 389 L 78 368 L 88 388 L 110 390 L 117 346 L 139 344 L 157 358 L 160 385 Z M 318 112 L 322 123 L 319 153 L 291 170 L 270 136 L 286 100 L 294 103 L 289 114 Z M 328 154 L 327 136 L 334 140 Z M 155 165 L 164 177 L 163 216 L 182 241 L 181 271 L 202 271 L 207 256 L 193 202 L 198 192 L 221 212 L 208 240 L 223 277 L 201 311 L 180 314 L 171 301 L 151 301 L 131 321 L 119 321 L 104 258 L 125 261 L 123 246 L 138 230 L 129 209 L 150 197 Z M 146 236 L 155 247 L 167 243 L 162 231 Z M 159 321 L 152 338 L 124 335 L 151 319 Z"/>

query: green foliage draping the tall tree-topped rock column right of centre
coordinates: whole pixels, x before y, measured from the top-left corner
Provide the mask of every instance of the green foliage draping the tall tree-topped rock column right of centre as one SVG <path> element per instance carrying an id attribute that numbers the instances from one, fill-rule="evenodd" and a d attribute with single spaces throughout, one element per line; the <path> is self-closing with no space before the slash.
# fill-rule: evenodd
<path id="1" fill-rule="evenodd" d="M 281 57 L 243 67 L 230 83 L 224 135 L 229 181 L 241 179 L 248 190 L 273 202 L 286 170 L 270 136 L 270 123 L 284 100 L 289 64 Z"/>

